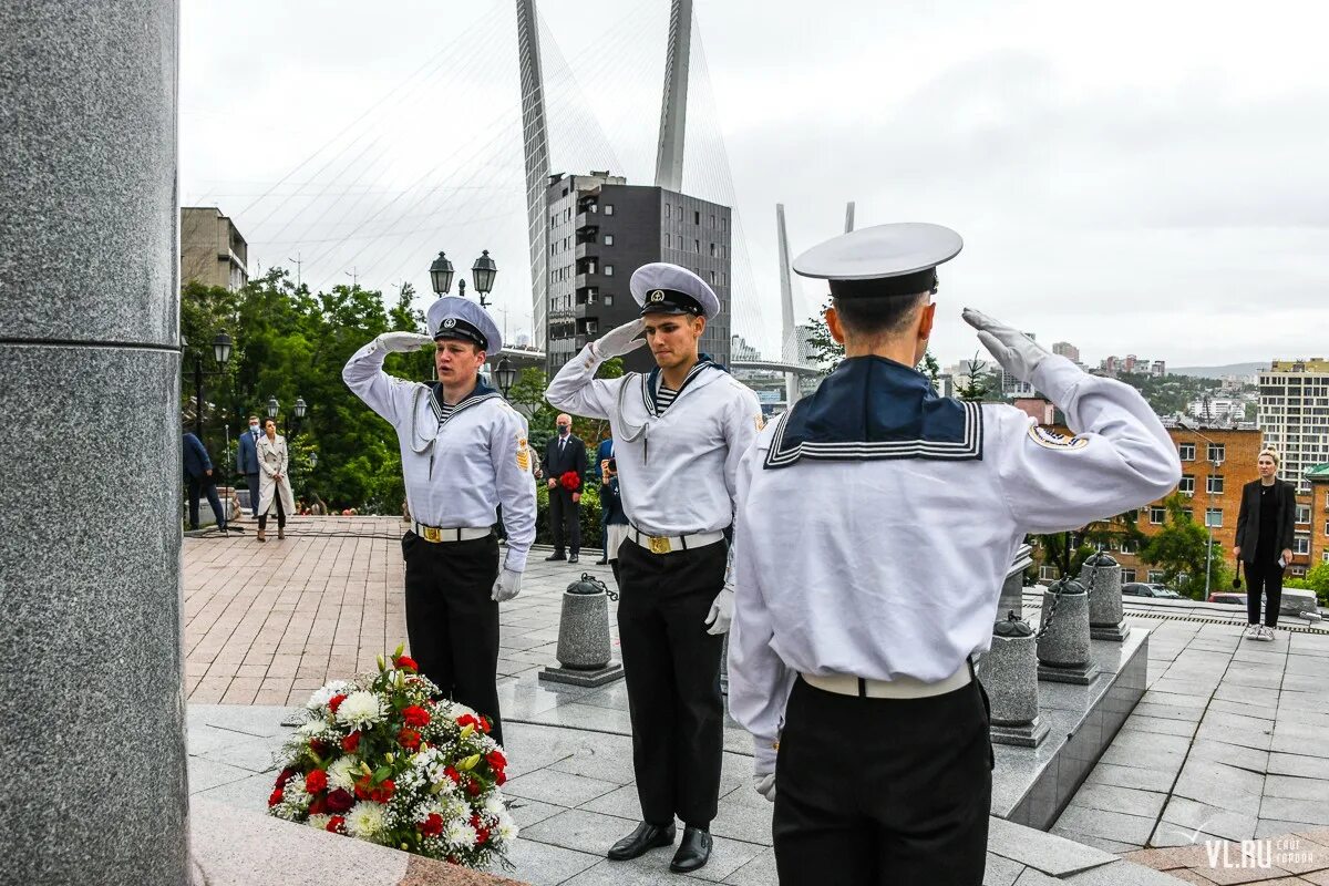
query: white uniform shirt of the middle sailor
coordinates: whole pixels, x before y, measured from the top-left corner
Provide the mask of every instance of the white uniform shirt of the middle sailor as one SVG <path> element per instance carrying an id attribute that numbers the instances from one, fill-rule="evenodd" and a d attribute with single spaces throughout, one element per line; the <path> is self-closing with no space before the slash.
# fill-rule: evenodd
<path id="1" fill-rule="evenodd" d="M 655 416 L 650 376 L 595 379 L 601 363 L 586 345 L 558 371 L 545 397 L 557 409 L 609 420 L 631 525 L 653 535 L 730 526 L 739 460 L 763 424 L 756 395 L 723 369 L 702 369 Z"/>

